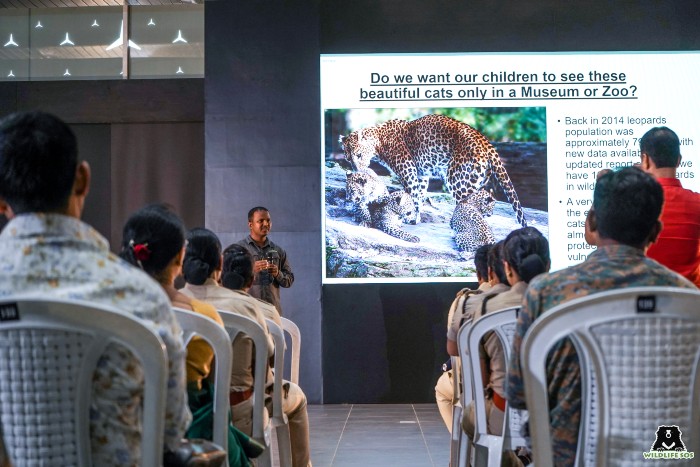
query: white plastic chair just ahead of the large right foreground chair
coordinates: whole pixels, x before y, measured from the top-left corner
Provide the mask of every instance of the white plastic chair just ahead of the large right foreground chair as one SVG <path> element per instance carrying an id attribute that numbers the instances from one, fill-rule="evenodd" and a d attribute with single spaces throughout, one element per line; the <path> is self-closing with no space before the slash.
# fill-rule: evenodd
<path id="1" fill-rule="evenodd" d="M 462 360 L 469 359 L 472 387 L 474 390 L 474 464 L 477 467 L 501 465 L 501 457 L 504 449 L 515 450 L 518 446 L 525 446 L 526 441 L 520 435 L 521 418 L 520 410 L 511 409 L 506 402 L 505 415 L 503 417 L 503 435 L 493 435 L 488 432 L 486 417 L 486 397 L 484 395 L 484 376 L 481 373 L 479 345 L 484 336 L 493 332 L 501 342 L 505 356 L 506 366 L 512 353 L 513 335 L 517 313 L 520 307 L 506 308 L 487 313 L 472 323 L 467 330 L 466 343 L 468 354 L 462 355 Z M 462 336 L 464 337 L 464 336 Z M 462 345 L 465 342 L 462 342 Z M 479 388 L 479 389 L 476 389 Z"/>

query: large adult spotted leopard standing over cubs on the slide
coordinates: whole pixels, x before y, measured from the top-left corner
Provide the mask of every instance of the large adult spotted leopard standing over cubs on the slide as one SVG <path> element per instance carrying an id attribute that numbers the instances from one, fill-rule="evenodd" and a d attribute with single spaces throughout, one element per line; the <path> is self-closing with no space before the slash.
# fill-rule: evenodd
<path id="1" fill-rule="evenodd" d="M 496 149 L 476 129 L 444 115 L 416 120 L 389 120 L 340 137 L 354 170 L 366 170 L 374 156 L 392 170 L 411 195 L 412 224 L 420 222 L 430 177 L 440 177 L 459 204 L 493 178 L 526 226 L 518 194 Z"/>

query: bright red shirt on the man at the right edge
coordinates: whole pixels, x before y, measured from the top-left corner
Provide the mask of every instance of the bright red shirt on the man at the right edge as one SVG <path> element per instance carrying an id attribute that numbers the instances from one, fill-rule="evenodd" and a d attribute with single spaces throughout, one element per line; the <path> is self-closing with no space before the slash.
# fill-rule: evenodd
<path id="1" fill-rule="evenodd" d="M 700 193 L 676 178 L 657 180 L 664 190 L 663 227 L 647 256 L 700 287 Z"/>

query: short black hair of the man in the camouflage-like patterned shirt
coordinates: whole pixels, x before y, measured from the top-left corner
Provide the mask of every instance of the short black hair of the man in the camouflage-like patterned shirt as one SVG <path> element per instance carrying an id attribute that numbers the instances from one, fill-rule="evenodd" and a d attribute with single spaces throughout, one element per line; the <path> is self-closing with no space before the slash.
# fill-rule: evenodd
<path id="1" fill-rule="evenodd" d="M 625 245 L 643 245 L 659 220 L 664 192 L 656 179 L 637 167 L 602 175 L 593 191 L 598 233 Z"/>

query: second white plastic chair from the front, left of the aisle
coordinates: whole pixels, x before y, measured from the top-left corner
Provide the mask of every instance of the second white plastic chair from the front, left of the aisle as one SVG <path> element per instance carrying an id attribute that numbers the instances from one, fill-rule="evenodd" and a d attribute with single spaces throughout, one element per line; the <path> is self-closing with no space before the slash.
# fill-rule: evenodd
<path id="1" fill-rule="evenodd" d="M 272 428 L 277 439 L 277 454 L 280 467 L 292 465 L 292 443 L 289 435 L 289 420 L 282 410 L 282 395 L 284 393 L 284 331 L 271 319 L 265 320 L 267 329 L 275 342 L 275 371 L 274 386 L 272 388 Z"/>

